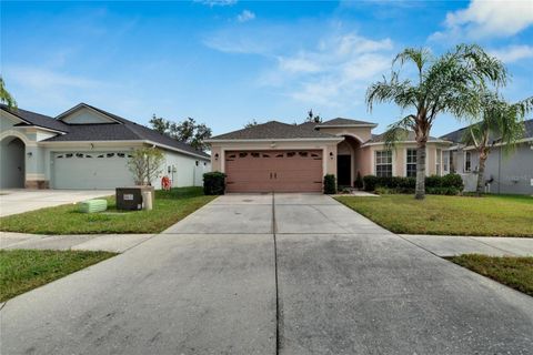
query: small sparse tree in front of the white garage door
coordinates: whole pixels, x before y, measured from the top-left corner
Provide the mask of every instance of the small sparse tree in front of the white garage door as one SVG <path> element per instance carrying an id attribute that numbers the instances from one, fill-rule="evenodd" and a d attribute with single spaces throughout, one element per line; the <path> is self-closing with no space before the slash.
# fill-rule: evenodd
<path id="1" fill-rule="evenodd" d="M 153 146 L 135 149 L 128 161 L 128 168 L 133 174 L 137 185 L 151 185 L 152 180 L 158 178 L 162 170 L 164 155 Z"/>

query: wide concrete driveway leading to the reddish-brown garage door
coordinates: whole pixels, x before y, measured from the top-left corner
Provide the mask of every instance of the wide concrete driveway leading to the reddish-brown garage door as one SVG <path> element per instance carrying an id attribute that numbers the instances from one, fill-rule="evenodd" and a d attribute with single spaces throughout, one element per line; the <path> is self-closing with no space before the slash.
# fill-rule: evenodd
<path id="1" fill-rule="evenodd" d="M 8 301 L 2 354 L 531 354 L 533 298 L 323 195 L 219 197 Z"/>

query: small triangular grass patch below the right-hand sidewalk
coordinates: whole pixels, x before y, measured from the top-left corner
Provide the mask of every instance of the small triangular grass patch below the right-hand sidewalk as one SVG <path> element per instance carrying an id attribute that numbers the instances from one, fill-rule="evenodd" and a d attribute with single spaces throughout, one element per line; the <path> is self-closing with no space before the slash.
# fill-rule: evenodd
<path id="1" fill-rule="evenodd" d="M 483 276 L 533 296 L 533 257 L 465 254 L 446 257 Z"/>

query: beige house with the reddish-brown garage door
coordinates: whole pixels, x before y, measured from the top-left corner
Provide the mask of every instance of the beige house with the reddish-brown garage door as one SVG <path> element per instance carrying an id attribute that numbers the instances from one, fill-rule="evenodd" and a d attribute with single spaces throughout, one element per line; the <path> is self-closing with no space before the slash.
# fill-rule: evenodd
<path id="1" fill-rule="evenodd" d="M 228 192 L 320 192 L 325 174 L 339 185 L 353 186 L 358 173 L 414 176 L 416 143 L 412 132 L 393 150 L 383 135 L 372 134 L 375 123 L 333 119 L 322 123 L 286 124 L 270 121 L 213 136 L 213 171 L 224 172 Z M 442 154 L 451 142 L 431 138 L 426 174 L 442 174 Z"/>

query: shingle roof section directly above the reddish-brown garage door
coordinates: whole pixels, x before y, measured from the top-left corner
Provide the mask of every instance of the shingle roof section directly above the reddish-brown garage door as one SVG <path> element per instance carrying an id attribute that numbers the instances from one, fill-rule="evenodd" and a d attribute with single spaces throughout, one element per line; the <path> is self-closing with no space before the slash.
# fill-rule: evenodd
<path id="1" fill-rule="evenodd" d="M 211 140 L 283 140 L 283 139 L 334 139 L 332 134 L 314 130 L 310 124 L 288 124 L 270 121 L 242 130 L 220 134 Z"/>

